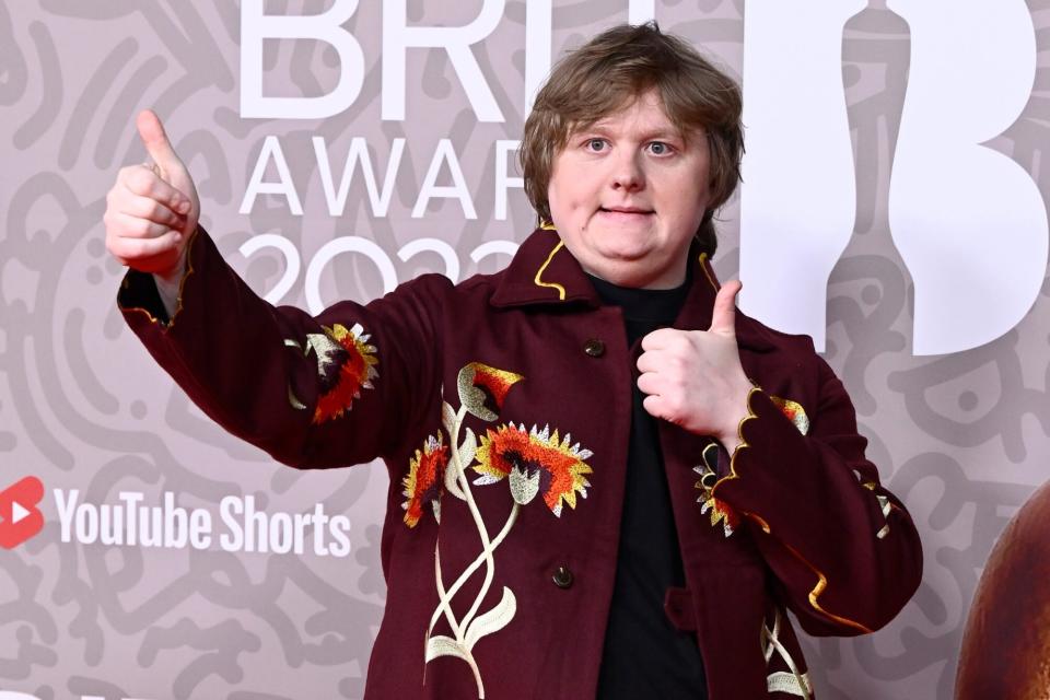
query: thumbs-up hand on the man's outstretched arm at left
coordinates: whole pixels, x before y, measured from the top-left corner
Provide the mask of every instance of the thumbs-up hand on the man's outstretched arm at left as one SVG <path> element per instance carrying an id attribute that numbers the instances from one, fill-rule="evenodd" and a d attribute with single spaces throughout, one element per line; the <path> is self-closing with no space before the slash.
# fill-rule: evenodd
<path id="1" fill-rule="evenodd" d="M 186 241 L 197 229 L 200 200 L 164 126 L 145 109 L 136 126 L 152 163 L 120 168 L 106 195 L 106 247 L 122 265 L 177 279 Z"/>

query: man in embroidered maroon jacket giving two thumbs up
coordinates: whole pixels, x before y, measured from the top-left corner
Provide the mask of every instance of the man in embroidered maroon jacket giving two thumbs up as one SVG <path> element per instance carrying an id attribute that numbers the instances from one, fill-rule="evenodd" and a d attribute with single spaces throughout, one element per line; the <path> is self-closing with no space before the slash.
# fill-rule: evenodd
<path id="1" fill-rule="evenodd" d="M 154 164 L 106 213 L 128 323 L 277 459 L 390 470 L 368 698 L 812 697 L 784 610 L 855 634 L 914 592 L 918 536 L 841 383 L 709 265 L 739 116 L 684 42 L 609 30 L 537 96 L 542 225 L 508 269 L 316 318 L 233 273 L 139 116 Z"/>

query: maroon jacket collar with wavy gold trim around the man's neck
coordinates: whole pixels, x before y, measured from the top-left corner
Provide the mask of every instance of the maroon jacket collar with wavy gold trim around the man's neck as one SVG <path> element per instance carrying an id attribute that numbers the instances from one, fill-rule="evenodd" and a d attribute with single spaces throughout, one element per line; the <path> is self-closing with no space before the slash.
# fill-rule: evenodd
<path id="1" fill-rule="evenodd" d="M 675 328 L 711 327 L 711 310 L 721 289 L 705 253 L 693 245 L 689 250 L 692 287 L 686 296 Z M 583 305 L 598 308 L 602 300 L 586 272 L 565 248 L 553 228 L 536 229 L 518 247 L 510 266 L 500 276 L 490 303 L 498 308 L 532 305 Z M 737 310 L 736 338 L 742 348 L 758 352 L 773 348 L 770 331 Z"/>

